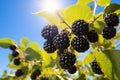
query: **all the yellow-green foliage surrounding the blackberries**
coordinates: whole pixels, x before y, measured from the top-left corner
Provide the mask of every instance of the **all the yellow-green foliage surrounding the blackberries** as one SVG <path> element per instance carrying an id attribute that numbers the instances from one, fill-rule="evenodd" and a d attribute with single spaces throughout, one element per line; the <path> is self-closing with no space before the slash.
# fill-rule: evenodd
<path id="1" fill-rule="evenodd" d="M 90 3 L 104 7 L 103 12 L 94 14 L 97 6 L 89 6 Z M 108 13 L 116 13 L 120 16 L 120 4 L 110 4 L 110 0 L 78 0 L 76 4 L 68 6 L 64 9 L 59 9 L 57 12 L 50 13 L 48 11 L 40 11 L 35 14 L 43 17 L 50 24 L 55 24 L 59 29 L 67 29 L 68 25 L 72 25 L 75 20 L 84 19 L 90 24 L 90 29 L 95 29 L 99 35 L 99 40 L 96 43 L 90 43 L 90 51 L 87 51 L 83 60 L 80 60 L 79 53 L 73 51 L 78 60 L 75 65 L 78 71 L 76 74 L 71 75 L 59 66 L 59 56 L 57 51 L 52 54 L 48 54 L 42 49 L 38 43 L 29 42 L 29 39 L 22 38 L 17 50 L 20 52 L 21 64 L 16 66 L 13 64 L 14 57 L 9 54 L 8 58 L 10 64 L 8 67 L 14 70 L 23 69 L 24 75 L 16 77 L 14 73 L 7 75 L 5 71 L 0 80 L 27 80 L 33 70 L 40 69 L 41 76 L 47 76 L 50 80 L 88 80 L 92 77 L 93 80 L 120 80 L 120 50 L 116 48 L 120 45 L 116 45 L 115 42 L 120 39 L 120 27 L 117 27 L 118 31 L 116 37 L 111 40 L 106 40 L 102 37 L 101 30 L 105 27 L 103 17 Z M 67 25 L 66 25 L 67 24 Z M 69 26 L 69 27 L 70 27 Z M 70 36 L 70 40 L 74 36 Z M 17 44 L 14 40 L 9 38 L 0 39 L 1 48 L 9 48 L 11 44 Z M 83 53 L 84 54 L 84 53 Z M 82 55 L 82 53 L 81 53 Z M 96 59 L 101 67 L 104 75 L 95 75 L 90 67 L 90 63 Z"/>

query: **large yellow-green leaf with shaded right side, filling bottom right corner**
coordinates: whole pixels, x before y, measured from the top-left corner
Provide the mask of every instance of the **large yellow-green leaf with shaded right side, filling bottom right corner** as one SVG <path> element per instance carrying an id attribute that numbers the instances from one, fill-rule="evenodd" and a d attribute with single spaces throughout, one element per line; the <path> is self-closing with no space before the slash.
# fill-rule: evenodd
<path id="1" fill-rule="evenodd" d="M 95 51 L 94 54 L 104 74 L 111 80 L 120 80 L 120 50 Z"/>

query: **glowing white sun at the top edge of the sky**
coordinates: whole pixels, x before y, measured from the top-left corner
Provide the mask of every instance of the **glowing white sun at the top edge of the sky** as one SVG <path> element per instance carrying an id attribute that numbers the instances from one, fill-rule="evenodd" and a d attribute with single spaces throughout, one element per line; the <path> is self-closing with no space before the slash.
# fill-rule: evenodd
<path id="1" fill-rule="evenodd" d="M 57 2 L 57 0 L 44 0 L 42 7 L 43 10 L 55 12 L 60 7 L 60 4 Z"/>

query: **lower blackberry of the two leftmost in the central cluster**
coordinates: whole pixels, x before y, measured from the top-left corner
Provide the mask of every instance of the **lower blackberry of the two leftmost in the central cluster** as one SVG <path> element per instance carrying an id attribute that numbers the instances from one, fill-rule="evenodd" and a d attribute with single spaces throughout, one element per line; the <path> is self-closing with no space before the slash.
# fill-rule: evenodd
<path id="1" fill-rule="evenodd" d="M 54 46 L 53 41 L 50 41 L 50 40 L 44 43 L 43 48 L 47 53 L 53 53 L 56 50 L 56 47 Z"/>

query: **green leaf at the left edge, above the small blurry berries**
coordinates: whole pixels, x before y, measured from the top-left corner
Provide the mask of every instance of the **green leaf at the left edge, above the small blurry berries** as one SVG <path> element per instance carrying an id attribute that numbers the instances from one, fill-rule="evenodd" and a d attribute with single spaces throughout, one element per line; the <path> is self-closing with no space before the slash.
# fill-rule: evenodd
<path id="1" fill-rule="evenodd" d="M 11 44 L 15 44 L 16 42 L 14 40 L 11 40 L 9 38 L 1 38 L 0 39 L 0 47 L 2 48 L 9 48 Z"/>

